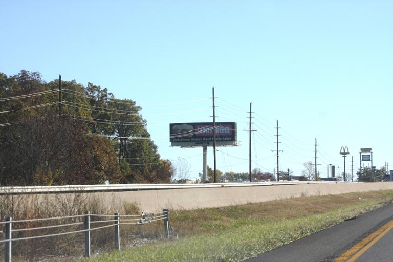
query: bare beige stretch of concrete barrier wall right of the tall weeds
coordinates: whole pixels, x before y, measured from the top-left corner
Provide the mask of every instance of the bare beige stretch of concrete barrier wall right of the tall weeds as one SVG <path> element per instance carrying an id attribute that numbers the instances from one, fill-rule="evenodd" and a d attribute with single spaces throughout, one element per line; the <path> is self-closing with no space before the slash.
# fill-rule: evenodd
<path id="1" fill-rule="evenodd" d="M 143 211 L 197 209 L 258 203 L 302 196 L 343 194 L 393 189 L 393 182 L 274 185 L 112 192 L 124 202 L 137 203 Z M 106 193 L 95 193 L 102 194 Z"/>

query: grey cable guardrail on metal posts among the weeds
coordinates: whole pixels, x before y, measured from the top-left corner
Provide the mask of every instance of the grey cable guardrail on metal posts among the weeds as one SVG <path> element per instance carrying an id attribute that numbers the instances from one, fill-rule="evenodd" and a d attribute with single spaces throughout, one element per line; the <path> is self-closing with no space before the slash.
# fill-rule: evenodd
<path id="1" fill-rule="evenodd" d="M 97 220 L 91 221 L 92 217 L 96 218 L 103 218 L 104 220 Z M 107 219 L 111 217 L 111 219 Z M 138 218 L 137 218 L 138 217 Z M 38 222 L 38 221 L 65 221 L 65 220 L 83 220 L 73 223 L 61 223 L 52 226 L 43 226 L 43 227 L 32 227 L 32 228 L 18 228 L 12 229 L 13 224 L 20 224 L 20 223 L 29 223 L 29 222 Z M 47 217 L 42 219 L 30 219 L 30 220 L 15 220 L 12 221 L 12 217 L 7 217 L 6 221 L 0 222 L 0 225 L 5 225 L 5 239 L 0 240 L 0 243 L 5 243 L 5 262 L 11 262 L 12 257 L 12 242 L 15 241 L 22 241 L 27 239 L 36 239 L 36 238 L 43 238 L 43 237 L 52 237 L 52 236 L 59 236 L 59 235 L 68 235 L 68 234 L 75 234 L 75 233 L 82 233 L 84 232 L 84 244 L 85 244 L 85 253 L 86 257 L 90 257 L 91 248 L 91 238 L 90 232 L 94 230 L 104 229 L 108 227 L 115 227 L 115 246 L 117 250 L 120 250 L 120 225 L 144 225 L 151 222 L 156 221 L 164 221 L 164 232 L 165 237 L 169 238 L 169 210 L 163 209 L 162 212 L 156 213 L 144 213 L 142 212 L 139 215 L 120 215 L 119 213 L 115 213 L 114 215 L 102 215 L 102 214 L 90 214 L 90 212 L 86 212 L 83 215 L 71 215 L 71 216 L 59 216 L 59 217 Z M 98 225 L 103 223 L 113 223 L 110 225 L 105 226 L 98 226 L 98 227 L 91 227 L 92 225 Z M 61 233 L 53 233 L 53 234 L 45 234 L 45 235 L 36 235 L 36 236 L 29 236 L 29 237 L 18 237 L 12 238 L 12 233 L 14 232 L 24 232 L 24 231 L 34 231 L 40 229 L 54 229 L 54 228 L 62 228 L 62 227 L 71 227 L 71 226 L 80 226 L 83 225 L 83 229 L 68 231 L 68 232 L 61 232 Z"/>

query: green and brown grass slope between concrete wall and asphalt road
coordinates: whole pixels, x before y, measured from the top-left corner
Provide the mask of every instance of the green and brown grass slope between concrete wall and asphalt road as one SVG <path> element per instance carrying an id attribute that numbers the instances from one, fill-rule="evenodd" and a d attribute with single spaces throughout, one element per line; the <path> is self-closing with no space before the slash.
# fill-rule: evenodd
<path id="1" fill-rule="evenodd" d="M 241 261 L 392 201 L 388 190 L 172 211 L 172 239 L 81 261 Z"/>

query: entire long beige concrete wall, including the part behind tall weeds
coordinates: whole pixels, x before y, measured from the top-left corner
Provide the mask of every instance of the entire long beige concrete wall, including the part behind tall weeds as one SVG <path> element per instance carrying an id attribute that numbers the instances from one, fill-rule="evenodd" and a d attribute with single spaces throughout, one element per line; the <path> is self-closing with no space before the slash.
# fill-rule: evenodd
<path id="1" fill-rule="evenodd" d="M 123 203 L 133 203 L 137 204 L 141 211 L 156 212 L 162 211 L 164 208 L 176 210 L 221 207 L 302 196 L 343 194 L 387 189 L 393 189 L 393 182 L 310 183 L 235 187 L 226 187 L 224 185 L 222 187 L 140 191 L 15 194 L 12 195 L 12 201 L 18 200 L 25 204 L 29 201 L 38 201 L 38 203 L 41 203 L 40 205 L 55 207 L 64 205 L 64 203 L 67 203 L 69 206 L 78 205 L 76 203 L 96 203 L 103 209 L 107 208 L 108 210 L 119 211 L 124 207 Z M 10 197 L 11 195 L 8 194 L 8 201 L 10 201 Z M 89 199 L 94 199 L 94 201 L 89 201 Z"/>

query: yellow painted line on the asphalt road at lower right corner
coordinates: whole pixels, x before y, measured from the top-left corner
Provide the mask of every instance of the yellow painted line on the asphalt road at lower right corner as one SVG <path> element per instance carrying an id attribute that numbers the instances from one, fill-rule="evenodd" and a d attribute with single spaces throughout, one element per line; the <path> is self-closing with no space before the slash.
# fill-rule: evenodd
<path id="1" fill-rule="evenodd" d="M 391 229 L 393 229 L 393 220 L 390 220 L 385 225 L 369 234 L 358 244 L 345 251 L 341 256 L 336 258 L 334 262 L 354 262 Z"/>

